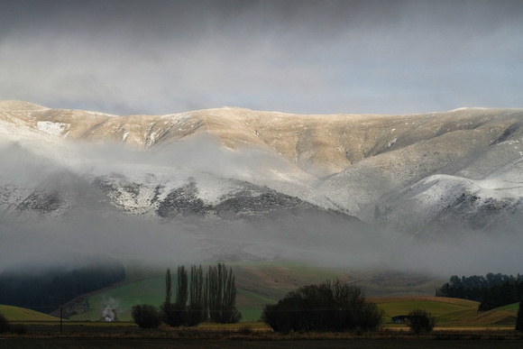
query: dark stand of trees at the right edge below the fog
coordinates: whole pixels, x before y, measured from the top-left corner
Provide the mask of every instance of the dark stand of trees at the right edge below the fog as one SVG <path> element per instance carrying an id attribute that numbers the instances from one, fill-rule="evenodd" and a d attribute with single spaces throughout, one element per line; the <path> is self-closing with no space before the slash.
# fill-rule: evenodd
<path id="1" fill-rule="evenodd" d="M 463 298 L 479 301 L 479 311 L 490 310 L 518 302 L 523 298 L 523 277 L 493 274 L 459 278 L 454 275 L 439 289 L 436 297 Z"/>

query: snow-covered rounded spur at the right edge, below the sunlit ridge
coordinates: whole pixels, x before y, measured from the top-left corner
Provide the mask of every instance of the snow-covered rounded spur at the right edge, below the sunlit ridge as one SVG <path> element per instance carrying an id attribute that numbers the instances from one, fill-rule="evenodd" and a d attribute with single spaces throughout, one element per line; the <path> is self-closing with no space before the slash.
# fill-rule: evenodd
<path id="1" fill-rule="evenodd" d="M 383 225 L 409 234 L 441 238 L 470 230 L 520 232 L 523 187 L 498 179 L 434 175 L 376 207 Z"/>

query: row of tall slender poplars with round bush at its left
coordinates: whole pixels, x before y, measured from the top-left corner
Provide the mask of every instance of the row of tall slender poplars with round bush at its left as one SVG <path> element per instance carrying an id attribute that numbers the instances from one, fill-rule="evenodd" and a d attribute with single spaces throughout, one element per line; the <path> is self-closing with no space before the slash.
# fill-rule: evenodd
<path id="1" fill-rule="evenodd" d="M 161 305 L 158 322 L 163 321 L 169 326 L 197 326 L 207 320 L 231 324 L 242 319 L 242 313 L 236 308 L 233 269 L 227 270 L 225 264 L 209 266 L 205 275 L 201 265 L 193 265 L 190 277 L 185 266 L 179 266 L 174 301 L 172 293 L 172 277 L 168 268 L 165 274 L 165 301 Z M 146 308 L 145 305 L 133 308 L 135 322 L 145 320 L 142 317 L 147 316 Z"/>

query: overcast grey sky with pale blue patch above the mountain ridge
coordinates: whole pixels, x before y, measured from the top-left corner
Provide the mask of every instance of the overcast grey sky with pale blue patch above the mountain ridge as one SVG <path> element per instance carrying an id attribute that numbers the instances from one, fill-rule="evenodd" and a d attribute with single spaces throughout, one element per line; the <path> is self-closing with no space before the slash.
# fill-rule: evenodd
<path id="1" fill-rule="evenodd" d="M 523 1 L 0 0 L 0 100 L 117 115 L 523 107 Z"/>

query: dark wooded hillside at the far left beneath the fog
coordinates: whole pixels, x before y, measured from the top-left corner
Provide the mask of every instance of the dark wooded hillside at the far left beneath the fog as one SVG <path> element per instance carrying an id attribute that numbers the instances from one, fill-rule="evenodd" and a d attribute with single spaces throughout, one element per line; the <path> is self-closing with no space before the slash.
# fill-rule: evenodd
<path id="1" fill-rule="evenodd" d="M 11 269 L 0 273 L 0 304 L 50 313 L 87 292 L 125 279 L 121 262 L 104 258 L 74 269 Z"/>

